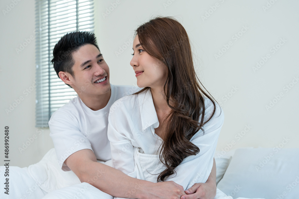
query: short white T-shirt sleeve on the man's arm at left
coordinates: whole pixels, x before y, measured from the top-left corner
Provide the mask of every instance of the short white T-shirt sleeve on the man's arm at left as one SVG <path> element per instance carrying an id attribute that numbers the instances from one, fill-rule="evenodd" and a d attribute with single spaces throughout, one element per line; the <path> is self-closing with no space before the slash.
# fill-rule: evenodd
<path id="1" fill-rule="evenodd" d="M 64 161 L 74 152 L 82 149 L 92 150 L 88 138 L 80 131 L 75 115 L 57 110 L 48 123 L 58 163 L 63 171 L 71 170 Z"/>

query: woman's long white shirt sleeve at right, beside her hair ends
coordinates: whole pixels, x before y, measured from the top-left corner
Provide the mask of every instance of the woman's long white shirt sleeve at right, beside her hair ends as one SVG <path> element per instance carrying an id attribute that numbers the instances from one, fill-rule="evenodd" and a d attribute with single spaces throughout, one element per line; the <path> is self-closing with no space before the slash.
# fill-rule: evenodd
<path id="1" fill-rule="evenodd" d="M 210 117 L 213 108 L 214 106 L 212 105 L 206 109 L 205 118 Z M 199 153 L 184 158 L 179 166 L 176 167 L 176 172 L 169 176 L 167 181 L 174 181 L 187 190 L 194 183 L 205 183 L 208 180 L 213 167 L 213 157 L 223 122 L 223 110 L 216 104 L 215 114 L 203 126 L 204 133 L 200 130 L 190 140 L 199 148 Z"/>

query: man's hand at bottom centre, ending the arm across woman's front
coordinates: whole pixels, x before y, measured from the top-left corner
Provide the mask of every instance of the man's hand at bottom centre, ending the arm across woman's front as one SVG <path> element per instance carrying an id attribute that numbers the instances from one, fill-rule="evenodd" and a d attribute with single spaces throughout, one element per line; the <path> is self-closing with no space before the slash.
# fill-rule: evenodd
<path id="1" fill-rule="evenodd" d="M 173 181 L 166 181 L 153 183 L 149 189 L 145 190 L 146 197 L 144 199 L 179 199 L 184 194 L 184 188 L 181 185 Z"/>

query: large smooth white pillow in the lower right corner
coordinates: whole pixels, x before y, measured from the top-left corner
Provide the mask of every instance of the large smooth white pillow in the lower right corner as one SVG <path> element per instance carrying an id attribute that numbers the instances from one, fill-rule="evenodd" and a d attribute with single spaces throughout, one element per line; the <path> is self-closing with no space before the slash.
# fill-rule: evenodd
<path id="1" fill-rule="evenodd" d="M 237 149 L 217 187 L 245 198 L 298 198 L 299 149 Z"/>

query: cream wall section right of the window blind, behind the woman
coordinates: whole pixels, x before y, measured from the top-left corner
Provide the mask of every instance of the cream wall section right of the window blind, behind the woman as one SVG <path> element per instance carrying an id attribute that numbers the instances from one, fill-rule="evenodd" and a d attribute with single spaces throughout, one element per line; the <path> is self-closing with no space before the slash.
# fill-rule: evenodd
<path id="1" fill-rule="evenodd" d="M 97 1 L 96 10 L 99 12 L 95 32 L 100 50 L 110 66 L 111 82 L 129 85 L 136 82 L 129 65 L 132 43 L 127 48 L 123 45 L 132 38 L 137 26 L 151 16 L 175 16 L 192 41 L 199 78 L 222 103 L 225 112 L 217 150 L 246 146 L 272 148 L 282 143 L 284 138 L 289 141 L 280 144 L 281 147 L 298 147 L 299 83 L 294 77 L 299 77 L 299 2 L 271 0 L 274 4 L 268 4 L 269 9 L 264 11 L 267 1 L 270 3 L 270 0 L 120 0 L 120 4 L 105 17 L 102 13 L 109 7 L 112 10 L 116 1 Z M 219 7 L 215 10 L 216 3 Z M 209 10 L 212 14 L 202 19 Z M 232 38 L 243 26 L 248 30 L 243 29 L 242 36 Z M 283 46 L 272 54 L 271 48 L 279 44 L 281 38 L 286 40 L 285 43 L 281 42 Z M 232 45 L 216 60 L 214 54 L 229 41 Z M 115 51 L 122 47 L 126 50 L 116 56 Z M 271 57 L 254 71 L 252 67 L 268 53 Z M 293 80 L 297 84 L 293 84 Z M 285 87 L 288 84 L 293 86 L 291 90 Z M 233 87 L 237 88 L 234 94 L 230 93 Z M 275 96 L 280 93 L 283 97 L 277 102 Z M 277 103 L 267 110 L 265 106 L 270 104 L 270 100 Z M 251 127 L 249 131 L 246 125 Z M 241 132 L 242 137 L 237 135 Z"/>

